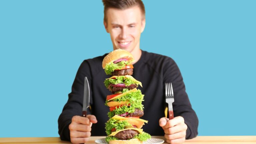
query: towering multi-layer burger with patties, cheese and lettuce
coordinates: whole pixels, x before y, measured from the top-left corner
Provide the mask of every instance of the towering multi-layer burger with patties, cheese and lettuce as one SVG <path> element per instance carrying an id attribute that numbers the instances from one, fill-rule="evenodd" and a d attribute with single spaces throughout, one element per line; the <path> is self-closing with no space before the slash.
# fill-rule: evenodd
<path id="1" fill-rule="evenodd" d="M 134 79 L 133 56 L 122 49 L 110 52 L 102 62 L 107 75 L 104 81 L 111 95 L 106 98 L 109 120 L 105 123 L 106 141 L 109 144 L 137 144 L 151 138 L 143 132 L 142 126 L 148 121 L 140 119 L 144 115 L 142 101 L 144 95 L 137 87 L 141 82 Z"/>

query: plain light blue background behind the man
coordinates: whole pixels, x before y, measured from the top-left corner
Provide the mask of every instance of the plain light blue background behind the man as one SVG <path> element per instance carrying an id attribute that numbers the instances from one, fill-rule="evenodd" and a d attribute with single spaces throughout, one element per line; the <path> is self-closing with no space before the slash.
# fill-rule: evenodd
<path id="1" fill-rule="evenodd" d="M 199 135 L 256 135 L 256 1 L 149 1 L 141 49 L 172 57 Z M 0 137 L 57 137 L 84 59 L 112 50 L 100 0 L 0 0 Z"/>

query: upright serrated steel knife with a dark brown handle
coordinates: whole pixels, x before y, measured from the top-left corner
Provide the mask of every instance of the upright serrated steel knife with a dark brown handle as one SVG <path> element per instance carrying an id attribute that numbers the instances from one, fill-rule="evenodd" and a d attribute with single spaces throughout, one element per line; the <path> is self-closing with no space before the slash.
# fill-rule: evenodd
<path id="1" fill-rule="evenodd" d="M 84 78 L 84 101 L 83 101 L 83 117 L 86 117 L 87 108 L 90 102 L 90 87 L 87 77 Z"/>

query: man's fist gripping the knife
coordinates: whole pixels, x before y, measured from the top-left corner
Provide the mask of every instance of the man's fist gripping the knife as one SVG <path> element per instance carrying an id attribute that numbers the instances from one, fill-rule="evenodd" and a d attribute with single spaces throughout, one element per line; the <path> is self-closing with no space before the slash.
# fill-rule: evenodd
<path id="1" fill-rule="evenodd" d="M 71 143 L 80 144 L 87 142 L 91 136 L 92 123 L 97 123 L 94 115 L 87 115 L 87 117 L 73 116 L 72 122 L 68 127 Z"/>

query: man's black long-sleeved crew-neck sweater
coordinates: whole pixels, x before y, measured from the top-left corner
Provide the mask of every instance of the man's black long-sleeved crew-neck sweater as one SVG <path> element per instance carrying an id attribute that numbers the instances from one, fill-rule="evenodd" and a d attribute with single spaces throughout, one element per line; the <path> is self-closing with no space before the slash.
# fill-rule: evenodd
<path id="1" fill-rule="evenodd" d="M 59 116 L 59 135 L 62 140 L 70 140 L 69 124 L 75 115 L 82 115 L 84 77 L 87 76 L 90 85 L 90 106 L 87 113 L 95 115 L 98 122 L 92 125 L 92 136 L 105 136 L 105 123 L 108 120 L 109 107 L 105 106 L 106 96 L 111 92 L 104 86 L 104 80 L 111 77 L 106 75 L 102 68 L 102 60 L 107 54 L 93 59 L 87 59 L 80 65 L 72 92 L 68 95 L 62 113 Z M 186 139 L 197 136 L 198 118 L 191 107 L 180 70 L 173 59 L 167 56 L 142 51 L 141 58 L 133 69 L 133 77 L 142 82 L 143 87 L 138 87 L 144 94 L 144 116 L 148 120 L 142 128 L 151 135 L 164 135 L 159 126 L 159 119 L 164 117 L 165 83 L 172 83 L 174 91 L 173 112 L 174 117 L 182 116 L 188 126 Z"/>

